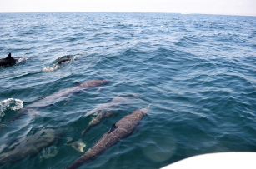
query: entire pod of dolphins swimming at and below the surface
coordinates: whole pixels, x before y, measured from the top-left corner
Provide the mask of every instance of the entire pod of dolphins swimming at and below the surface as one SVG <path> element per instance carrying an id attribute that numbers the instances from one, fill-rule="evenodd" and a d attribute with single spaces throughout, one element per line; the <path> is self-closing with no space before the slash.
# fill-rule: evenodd
<path id="1" fill-rule="evenodd" d="M 17 61 L 18 59 L 11 57 L 11 53 L 9 53 L 8 57 L 0 60 L 0 66 L 13 65 Z M 68 56 L 66 58 L 59 60 L 58 64 L 67 61 L 70 61 L 70 58 Z M 100 87 L 106 85 L 108 84 L 108 82 L 110 82 L 110 80 L 108 79 L 94 79 L 83 83 L 76 82 L 74 87 L 66 88 L 59 92 L 55 92 L 52 95 L 45 97 L 38 102 L 34 102 L 24 107 L 8 123 L 0 127 L 0 131 L 1 129 L 3 129 L 3 127 L 6 127 L 11 122 L 17 120 L 25 114 L 28 114 L 28 112 L 43 109 L 44 107 L 48 107 L 49 105 L 52 105 L 55 102 L 62 100 L 64 97 L 70 97 L 71 95 L 77 94 L 84 90 L 89 90 L 93 87 Z M 128 102 L 129 99 L 133 99 L 134 97 L 137 96 L 133 95 L 133 97 L 114 97 L 111 100 L 111 102 L 98 105 L 98 107 L 93 109 L 91 112 L 88 112 L 87 115 L 97 113 L 97 116 L 93 117 L 92 121 L 89 122 L 88 127 L 85 130 L 83 130 L 81 140 L 84 137 L 84 135 L 91 129 L 91 127 L 98 125 L 98 123 L 102 122 L 104 118 L 113 116 L 114 113 L 111 109 L 117 108 L 121 104 L 125 104 L 126 102 Z M 83 164 L 92 162 L 98 156 L 103 154 L 103 152 L 108 150 L 108 148 L 117 144 L 120 140 L 130 136 L 135 130 L 135 128 L 138 126 L 139 122 L 143 119 L 145 114 L 148 113 L 149 107 L 150 104 L 148 105 L 148 107 L 140 108 L 132 112 L 131 114 L 127 115 L 126 117 L 123 117 L 117 123 L 113 124 L 113 126 L 108 130 L 108 132 L 106 132 L 103 135 L 103 137 L 101 137 L 98 140 L 98 142 L 96 142 L 93 145 L 93 147 L 91 147 L 88 150 L 88 152 L 85 152 L 83 156 L 79 157 L 78 160 L 76 160 L 70 166 L 68 166 L 67 169 L 78 168 L 83 166 Z M 43 150 L 43 148 L 53 145 L 54 142 L 56 142 L 56 140 L 58 139 L 58 137 L 63 137 L 63 134 L 63 129 L 58 129 L 56 131 L 52 129 L 46 129 L 35 133 L 33 136 L 27 137 L 25 140 L 23 139 L 21 142 L 14 142 L 12 145 L 3 145 L 6 147 L 9 146 L 9 151 L 0 154 L 0 166 L 7 162 L 18 162 L 28 156 L 36 156 L 39 152 Z M 81 142 L 73 142 L 72 144 L 70 144 L 70 146 L 74 147 L 79 152 L 83 152 L 83 147 L 85 145 L 82 145 Z"/>

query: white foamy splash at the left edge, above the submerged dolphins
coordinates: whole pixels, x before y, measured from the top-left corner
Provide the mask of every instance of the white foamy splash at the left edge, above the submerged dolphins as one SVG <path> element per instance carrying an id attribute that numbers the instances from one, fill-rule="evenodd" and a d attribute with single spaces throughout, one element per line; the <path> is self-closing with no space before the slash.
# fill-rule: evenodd
<path id="1" fill-rule="evenodd" d="M 23 108 L 23 101 L 15 98 L 8 98 L 0 102 L 0 117 L 4 116 L 4 111 L 7 109 L 11 109 L 13 111 L 17 111 Z"/>

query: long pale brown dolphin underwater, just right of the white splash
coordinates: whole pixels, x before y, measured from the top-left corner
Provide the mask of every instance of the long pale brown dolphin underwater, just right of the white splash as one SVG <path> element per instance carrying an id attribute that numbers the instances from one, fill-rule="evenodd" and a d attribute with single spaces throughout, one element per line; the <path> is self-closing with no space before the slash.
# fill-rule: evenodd
<path id="1" fill-rule="evenodd" d="M 89 90 L 93 87 L 103 86 L 105 84 L 108 84 L 108 82 L 110 82 L 108 79 L 104 79 L 104 80 L 94 79 L 94 80 L 86 81 L 83 83 L 76 82 L 74 87 L 66 88 L 59 92 L 55 92 L 52 95 L 45 97 L 38 102 L 34 102 L 24 107 L 20 112 L 18 112 L 18 114 L 15 117 L 12 118 L 10 122 L 13 122 L 14 120 L 22 117 L 24 114 L 27 114 L 30 111 L 35 111 L 38 108 L 44 108 L 44 107 L 47 107 L 48 105 L 53 105 L 53 103 L 61 101 L 63 97 L 68 97 L 70 95 L 77 94 L 78 92 Z M 8 122 L 8 124 L 10 122 Z M 4 126 L 7 126 L 8 124 Z M 0 127 L 0 129 L 3 127 Z"/>

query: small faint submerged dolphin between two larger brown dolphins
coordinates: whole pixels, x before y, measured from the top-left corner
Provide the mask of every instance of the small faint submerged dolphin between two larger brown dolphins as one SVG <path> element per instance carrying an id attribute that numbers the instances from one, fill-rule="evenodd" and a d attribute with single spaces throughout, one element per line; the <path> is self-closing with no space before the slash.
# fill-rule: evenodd
<path id="1" fill-rule="evenodd" d="M 135 95 L 133 95 L 133 96 L 137 97 Z M 120 104 L 124 104 L 124 103 L 128 102 L 129 99 L 132 99 L 134 97 L 113 97 L 111 102 L 108 102 L 105 104 L 100 104 L 100 105 L 98 105 L 98 107 L 94 108 L 93 111 L 90 111 L 88 114 L 91 114 L 93 112 L 97 112 L 98 110 L 101 110 L 98 113 L 97 117 L 93 117 L 93 120 L 91 122 L 89 122 L 88 127 L 85 130 L 83 130 L 81 139 L 84 137 L 85 133 L 91 129 L 91 127 L 98 125 L 98 123 L 102 122 L 102 120 L 104 118 L 109 118 L 109 117 L 113 116 L 114 113 L 112 111 L 107 111 L 106 109 L 118 108 Z"/>

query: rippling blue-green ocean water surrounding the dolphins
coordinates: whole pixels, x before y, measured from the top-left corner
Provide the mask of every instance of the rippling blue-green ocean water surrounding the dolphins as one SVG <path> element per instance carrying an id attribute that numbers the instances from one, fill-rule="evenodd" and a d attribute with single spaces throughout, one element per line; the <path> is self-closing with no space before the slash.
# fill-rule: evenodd
<path id="1" fill-rule="evenodd" d="M 209 152 L 256 152 L 256 17 L 63 12 L 0 20 L 0 56 L 19 58 L 0 67 L 0 157 L 8 156 L 0 168 L 68 167 L 149 103 L 138 133 L 81 168 L 154 169 Z M 9 122 L 23 107 L 93 79 L 112 81 Z M 79 140 L 97 115 L 88 112 L 118 96 L 136 97 Z M 77 141 L 84 152 L 68 146 Z"/>

